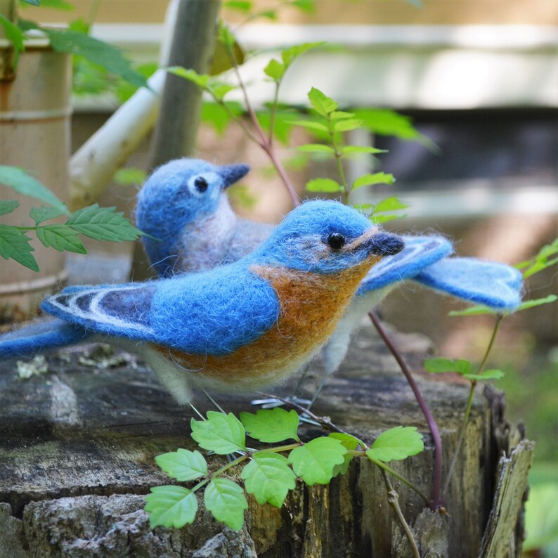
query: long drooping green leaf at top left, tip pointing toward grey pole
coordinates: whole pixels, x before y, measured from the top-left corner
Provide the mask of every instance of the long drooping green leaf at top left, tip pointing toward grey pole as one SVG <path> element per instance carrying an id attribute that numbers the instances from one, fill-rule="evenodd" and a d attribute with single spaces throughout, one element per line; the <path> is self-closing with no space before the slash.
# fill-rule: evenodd
<path id="1" fill-rule="evenodd" d="M 145 77 L 134 70 L 129 60 L 126 60 L 115 46 L 77 31 L 55 30 L 46 27 L 41 29 L 51 39 L 54 51 L 83 56 L 90 62 L 103 66 L 111 74 L 122 77 L 126 82 L 138 87 L 149 88 Z"/>

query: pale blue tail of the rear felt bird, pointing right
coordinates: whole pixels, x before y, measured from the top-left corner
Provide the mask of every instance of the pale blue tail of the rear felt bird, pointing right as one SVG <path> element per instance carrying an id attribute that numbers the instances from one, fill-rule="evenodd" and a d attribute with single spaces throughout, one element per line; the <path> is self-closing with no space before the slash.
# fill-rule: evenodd
<path id="1" fill-rule="evenodd" d="M 502 311 L 513 311 L 521 302 L 521 273 L 493 261 L 446 258 L 424 268 L 413 280 L 431 289 Z"/>

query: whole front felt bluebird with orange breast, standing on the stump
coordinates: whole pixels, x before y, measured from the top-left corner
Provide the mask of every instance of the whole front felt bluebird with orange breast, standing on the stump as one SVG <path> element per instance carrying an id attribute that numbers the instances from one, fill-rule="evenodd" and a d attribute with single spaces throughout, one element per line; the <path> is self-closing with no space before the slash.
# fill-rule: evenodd
<path id="1" fill-rule="evenodd" d="M 47 297 L 55 319 L 1 336 L 0 357 L 96 336 L 140 353 L 181 403 L 191 386 L 256 389 L 309 361 L 370 268 L 402 248 L 354 209 L 306 202 L 231 265 Z"/>

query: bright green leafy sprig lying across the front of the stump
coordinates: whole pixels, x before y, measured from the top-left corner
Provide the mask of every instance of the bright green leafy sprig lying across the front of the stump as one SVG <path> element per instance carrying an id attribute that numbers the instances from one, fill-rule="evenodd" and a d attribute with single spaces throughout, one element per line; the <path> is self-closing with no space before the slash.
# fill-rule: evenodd
<path id="1" fill-rule="evenodd" d="M 193 523 L 197 513 L 195 493 L 205 488 L 206 509 L 217 521 L 238 531 L 248 507 L 246 494 L 253 495 L 259 505 L 281 507 L 297 479 L 309 486 L 329 484 L 335 476 L 346 473 L 355 457 L 368 458 L 426 498 L 387 465 L 391 460 L 403 460 L 424 449 L 422 436 L 414 427 L 389 429 L 370 448 L 354 436 L 339 432 L 303 442 L 298 433 L 299 415 L 283 408 L 240 413 L 240 420 L 232 413 L 208 411 L 207 420 L 192 419 L 191 428 L 192 438 L 200 448 L 218 455 L 240 453 L 240 457 L 210 473 L 207 461 L 198 450 L 179 449 L 157 456 L 157 465 L 171 479 L 197 481 L 197 484 L 192 488 L 175 485 L 151 488 L 145 511 L 150 514 L 152 527 L 180 528 Z M 288 440 L 294 443 L 256 450 L 247 446 L 246 436 L 260 443 Z M 235 476 L 244 481 L 244 488 L 224 477 L 238 466 L 242 470 Z"/>

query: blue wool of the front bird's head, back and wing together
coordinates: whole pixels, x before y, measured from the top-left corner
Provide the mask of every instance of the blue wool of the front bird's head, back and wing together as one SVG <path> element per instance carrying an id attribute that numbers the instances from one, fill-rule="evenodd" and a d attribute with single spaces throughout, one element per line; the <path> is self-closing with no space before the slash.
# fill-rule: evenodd
<path id="1" fill-rule="evenodd" d="M 273 287 L 251 271 L 254 264 L 266 266 L 273 258 L 285 261 L 285 268 L 297 269 L 304 261 L 305 273 L 332 273 L 334 268 L 341 271 L 361 264 L 368 271 L 373 263 L 375 229 L 358 212 L 337 202 L 309 202 L 291 213 L 297 214 L 299 219 L 278 226 L 260 251 L 231 266 L 138 285 L 72 288 L 48 297 L 42 308 L 96 332 L 188 353 L 220 356 L 235 351 L 263 335 L 279 316 L 281 302 Z M 360 238 L 342 250 L 332 250 L 323 242 L 316 247 L 316 231 L 323 235 L 329 230 L 351 231 Z M 382 238 L 383 242 L 397 239 Z M 299 252 L 294 265 L 280 255 L 287 242 Z M 318 249 L 325 256 L 316 259 Z"/>

